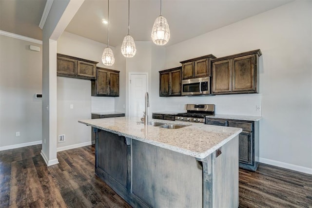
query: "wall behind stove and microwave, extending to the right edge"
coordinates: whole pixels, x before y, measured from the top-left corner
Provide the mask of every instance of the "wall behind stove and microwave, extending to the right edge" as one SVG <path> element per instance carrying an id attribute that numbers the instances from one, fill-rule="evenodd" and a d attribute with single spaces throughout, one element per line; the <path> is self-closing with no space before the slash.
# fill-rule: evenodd
<path id="1" fill-rule="evenodd" d="M 293 1 L 254 17 L 170 46 L 166 68 L 208 54 L 261 49 L 260 93 L 168 98 L 166 109 L 215 103 L 216 113 L 253 114 L 262 103 L 262 162 L 312 173 L 312 1 Z"/>

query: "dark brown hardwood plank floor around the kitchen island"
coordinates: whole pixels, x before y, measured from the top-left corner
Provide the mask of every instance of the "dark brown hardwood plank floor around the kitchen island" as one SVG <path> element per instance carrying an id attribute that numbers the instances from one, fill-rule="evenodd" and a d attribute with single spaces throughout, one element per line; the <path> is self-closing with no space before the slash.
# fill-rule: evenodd
<path id="1" fill-rule="evenodd" d="M 94 174 L 91 146 L 58 152 L 46 167 L 41 145 L 0 151 L 0 207 L 130 207 Z M 260 164 L 239 170 L 239 207 L 312 207 L 312 175 Z"/>

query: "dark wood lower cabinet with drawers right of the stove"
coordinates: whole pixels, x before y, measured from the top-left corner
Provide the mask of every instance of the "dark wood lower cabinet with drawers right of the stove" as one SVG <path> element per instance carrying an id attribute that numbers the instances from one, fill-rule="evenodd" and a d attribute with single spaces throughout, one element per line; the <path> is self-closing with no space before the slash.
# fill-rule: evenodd
<path id="1" fill-rule="evenodd" d="M 238 136 L 239 167 L 246 170 L 257 170 L 259 164 L 259 121 L 207 117 L 205 124 L 243 129 Z"/>

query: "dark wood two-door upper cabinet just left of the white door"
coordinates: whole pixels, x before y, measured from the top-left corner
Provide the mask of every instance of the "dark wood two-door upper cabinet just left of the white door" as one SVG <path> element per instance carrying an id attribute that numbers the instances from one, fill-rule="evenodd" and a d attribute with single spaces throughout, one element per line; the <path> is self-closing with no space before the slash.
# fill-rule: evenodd
<path id="1" fill-rule="evenodd" d="M 97 67 L 97 79 L 91 80 L 92 96 L 119 96 L 119 71 Z"/>

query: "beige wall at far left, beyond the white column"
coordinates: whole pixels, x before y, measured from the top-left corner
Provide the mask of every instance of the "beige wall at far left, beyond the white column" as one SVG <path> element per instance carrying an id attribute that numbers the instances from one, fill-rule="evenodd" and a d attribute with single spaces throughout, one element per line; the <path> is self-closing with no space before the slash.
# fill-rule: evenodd
<path id="1" fill-rule="evenodd" d="M 0 45 L 0 150 L 39 144 L 42 99 L 35 94 L 42 92 L 42 50 L 29 45 L 42 45 L 3 35 Z"/>

